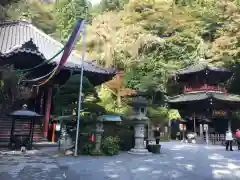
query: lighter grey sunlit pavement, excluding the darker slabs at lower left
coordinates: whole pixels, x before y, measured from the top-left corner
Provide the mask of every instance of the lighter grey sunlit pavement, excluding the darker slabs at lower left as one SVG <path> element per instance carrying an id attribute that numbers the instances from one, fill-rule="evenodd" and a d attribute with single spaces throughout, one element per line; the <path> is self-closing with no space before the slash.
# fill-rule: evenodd
<path id="1" fill-rule="evenodd" d="M 62 158 L 83 180 L 239 180 L 240 152 L 226 152 L 223 146 L 165 142 L 163 154 L 115 157 Z"/>

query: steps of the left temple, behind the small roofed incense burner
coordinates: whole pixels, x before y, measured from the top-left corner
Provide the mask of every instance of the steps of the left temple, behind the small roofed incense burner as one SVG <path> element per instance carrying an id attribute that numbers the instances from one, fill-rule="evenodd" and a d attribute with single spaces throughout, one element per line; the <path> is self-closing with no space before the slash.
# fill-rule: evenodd
<path id="1" fill-rule="evenodd" d="M 28 122 L 16 121 L 15 122 L 15 133 L 28 134 L 29 129 L 27 128 Z M 10 140 L 12 120 L 11 117 L 6 115 L 0 116 L 0 145 L 6 145 Z M 43 131 L 41 124 L 36 123 L 34 127 L 33 141 L 41 142 L 44 141 Z"/>

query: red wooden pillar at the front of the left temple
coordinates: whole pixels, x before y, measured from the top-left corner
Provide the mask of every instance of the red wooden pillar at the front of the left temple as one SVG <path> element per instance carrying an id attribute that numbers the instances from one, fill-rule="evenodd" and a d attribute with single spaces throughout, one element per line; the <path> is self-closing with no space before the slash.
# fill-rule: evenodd
<path id="1" fill-rule="evenodd" d="M 48 136 L 48 126 L 51 114 L 51 104 L 52 104 L 52 87 L 48 87 L 46 91 L 46 104 L 45 104 L 45 117 L 44 117 L 44 137 Z"/>

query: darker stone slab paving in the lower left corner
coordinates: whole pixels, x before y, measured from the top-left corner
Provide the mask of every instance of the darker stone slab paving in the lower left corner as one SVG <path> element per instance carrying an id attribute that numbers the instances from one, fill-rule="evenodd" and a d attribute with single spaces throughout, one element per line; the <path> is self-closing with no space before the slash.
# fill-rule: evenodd
<path id="1" fill-rule="evenodd" d="M 55 152 L 20 155 L 1 151 L 0 180 L 76 180 L 74 172 L 57 164 Z"/>

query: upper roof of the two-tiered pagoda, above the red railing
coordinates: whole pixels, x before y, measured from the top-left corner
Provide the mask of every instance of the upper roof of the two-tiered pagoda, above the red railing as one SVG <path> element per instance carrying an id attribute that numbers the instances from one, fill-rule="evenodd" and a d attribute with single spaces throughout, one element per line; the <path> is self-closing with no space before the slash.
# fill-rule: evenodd
<path id="1" fill-rule="evenodd" d="M 231 71 L 229 71 L 228 69 L 214 67 L 214 66 L 212 66 L 208 63 L 199 62 L 197 64 L 193 64 L 193 65 L 191 65 L 189 67 L 186 67 L 184 69 L 180 69 L 177 72 L 177 74 L 178 75 L 191 74 L 191 73 L 200 72 L 200 71 L 204 71 L 204 70 L 231 73 Z"/>

